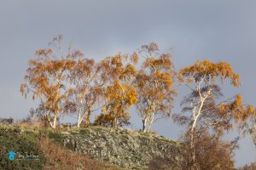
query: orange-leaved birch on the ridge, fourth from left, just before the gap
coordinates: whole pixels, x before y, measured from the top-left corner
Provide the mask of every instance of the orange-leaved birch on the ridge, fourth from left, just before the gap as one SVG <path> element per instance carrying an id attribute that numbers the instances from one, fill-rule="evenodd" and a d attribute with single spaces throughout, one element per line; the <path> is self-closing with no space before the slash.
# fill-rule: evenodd
<path id="1" fill-rule="evenodd" d="M 143 119 L 143 132 L 149 132 L 157 119 L 170 115 L 176 91 L 172 89 L 171 55 L 156 54 L 156 43 L 144 45 L 141 50 L 146 59 L 133 84 L 137 89 L 136 107 Z"/>

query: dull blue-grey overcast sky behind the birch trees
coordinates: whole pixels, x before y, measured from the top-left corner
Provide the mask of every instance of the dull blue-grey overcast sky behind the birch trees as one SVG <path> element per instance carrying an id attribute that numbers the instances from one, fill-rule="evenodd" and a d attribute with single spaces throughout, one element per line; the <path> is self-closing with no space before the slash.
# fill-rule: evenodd
<path id="1" fill-rule="evenodd" d="M 177 69 L 198 59 L 229 61 L 241 88 L 224 88 L 224 94 L 235 90 L 256 105 L 255 8 L 256 1 L 247 0 L 0 0 L 0 116 L 21 118 L 35 106 L 19 92 L 27 60 L 58 34 L 96 60 L 157 42 Z M 138 128 L 134 117 L 132 128 Z M 180 128 L 162 121 L 154 130 L 177 139 Z M 240 144 L 236 166 L 256 161 L 251 139 Z"/>

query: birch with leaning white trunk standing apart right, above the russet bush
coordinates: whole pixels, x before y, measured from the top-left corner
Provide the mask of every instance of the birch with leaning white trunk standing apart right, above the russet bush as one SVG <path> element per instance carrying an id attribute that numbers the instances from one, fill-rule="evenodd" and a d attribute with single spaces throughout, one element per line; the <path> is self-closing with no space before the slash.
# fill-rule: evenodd
<path id="1" fill-rule="evenodd" d="M 223 135 L 224 130 L 230 130 L 233 120 L 243 122 L 253 114 L 252 106 L 242 104 L 241 95 L 224 99 L 219 85 L 230 79 L 231 86 L 240 86 L 239 75 L 233 71 L 227 62 L 212 63 L 209 60 L 197 61 L 194 65 L 179 71 L 179 80 L 191 90 L 191 94 L 183 100 L 183 111 L 189 115 L 176 115 L 177 122 L 187 125 L 190 131 L 190 149 L 196 161 L 196 140 L 201 138 L 202 129 L 212 129 L 214 133 Z"/>

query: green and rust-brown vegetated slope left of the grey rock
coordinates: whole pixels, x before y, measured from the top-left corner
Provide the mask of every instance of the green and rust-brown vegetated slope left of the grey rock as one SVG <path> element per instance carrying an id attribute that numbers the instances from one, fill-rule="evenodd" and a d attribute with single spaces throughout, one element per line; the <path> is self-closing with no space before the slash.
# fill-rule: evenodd
<path id="1" fill-rule="evenodd" d="M 73 150 L 63 148 L 48 139 L 47 129 L 28 127 L 0 127 L 0 169 L 4 170 L 77 170 L 77 169 L 119 169 L 103 161 L 90 159 Z M 54 134 L 53 131 L 50 134 Z M 7 153 L 14 151 L 15 160 L 10 161 Z M 20 154 L 18 154 L 18 152 Z M 27 152 L 27 154 L 26 154 Z M 28 156 L 27 156 L 28 155 Z M 23 160 L 21 160 L 22 156 Z M 38 156 L 37 159 L 30 156 Z"/>

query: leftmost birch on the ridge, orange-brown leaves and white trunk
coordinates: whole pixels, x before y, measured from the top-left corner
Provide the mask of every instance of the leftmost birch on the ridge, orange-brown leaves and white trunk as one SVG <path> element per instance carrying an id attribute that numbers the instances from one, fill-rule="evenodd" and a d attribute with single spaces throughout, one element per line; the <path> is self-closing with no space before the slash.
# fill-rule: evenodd
<path id="1" fill-rule="evenodd" d="M 61 37 L 55 37 L 52 43 L 57 45 L 61 43 L 60 41 Z M 28 61 L 26 83 L 20 85 L 22 95 L 26 97 L 26 94 L 31 93 L 32 99 L 39 99 L 41 105 L 44 105 L 45 116 L 52 127 L 56 127 L 57 119 L 64 111 L 68 72 L 76 65 L 75 58 L 81 55 L 77 51 L 73 52 L 71 48 L 68 48 L 67 55 L 60 51 L 57 59 L 54 53 L 54 48 L 38 49 L 38 58 Z"/>

